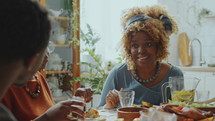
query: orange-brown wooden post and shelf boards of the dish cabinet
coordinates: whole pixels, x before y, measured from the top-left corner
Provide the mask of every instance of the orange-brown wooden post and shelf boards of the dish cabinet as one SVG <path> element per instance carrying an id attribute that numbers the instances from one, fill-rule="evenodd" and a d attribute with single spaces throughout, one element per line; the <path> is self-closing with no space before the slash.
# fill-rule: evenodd
<path id="1" fill-rule="evenodd" d="M 41 4 L 47 7 L 47 9 L 54 8 L 52 1 L 47 1 L 47 0 L 39 0 Z M 50 7 L 50 8 L 49 8 Z M 61 6 L 60 8 L 65 8 L 69 7 L 71 8 L 71 17 L 70 16 L 65 16 L 65 17 L 58 17 L 54 15 L 50 15 L 50 19 L 53 20 L 54 22 L 59 22 L 59 26 L 56 26 L 60 29 L 62 29 L 64 32 L 71 32 L 72 38 L 76 38 L 77 42 L 79 43 L 80 40 L 80 0 L 73 0 L 72 4 L 69 6 Z M 71 21 L 72 19 L 72 21 Z M 70 23 L 69 23 L 70 22 Z M 71 24 L 71 26 L 68 26 Z M 75 28 L 75 29 L 74 29 Z M 71 31 L 69 31 L 71 30 Z M 68 44 L 53 44 L 49 45 L 50 47 L 59 47 L 60 52 L 65 52 L 67 50 L 61 48 L 66 48 L 70 49 L 72 53 L 68 53 L 69 55 L 66 56 L 72 56 L 72 69 L 69 71 L 47 71 L 47 74 L 72 74 L 73 77 L 79 77 L 80 76 L 80 65 L 76 64 L 80 62 L 80 45 L 76 45 L 75 42 L 71 43 L 72 40 L 66 40 Z M 70 48 L 71 47 L 71 48 Z M 60 52 L 56 52 L 59 54 Z M 65 53 L 67 54 L 67 53 Z"/>

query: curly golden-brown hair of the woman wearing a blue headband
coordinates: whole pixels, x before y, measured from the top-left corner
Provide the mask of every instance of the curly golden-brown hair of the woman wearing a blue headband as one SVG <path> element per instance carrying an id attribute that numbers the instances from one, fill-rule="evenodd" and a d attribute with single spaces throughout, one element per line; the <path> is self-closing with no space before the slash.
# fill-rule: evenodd
<path id="1" fill-rule="evenodd" d="M 135 68 L 135 63 L 132 60 L 130 49 L 131 49 L 131 40 L 129 39 L 133 36 L 136 32 L 143 31 L 146 32 L 152 39 L 157 43 L 157 60 L 162 61 L 167 58 L 168 46 L 169 46 L 169 37 L 172 33 L 178 32 L 178 26 L 173 18 L 168 15 L 167 11 L 158 5 L 154 5 L 151 7 L 134 7 L 128 9 L 123 12 L 121 18 L 121 25 L 123 29 L 126 27 L 127 22 L 130 18 L 135 15 L 142 14 L 151 17 L 152 19 L 147 19 L 145 21 L 136 21 L 130 24 L 124 31 L 123 36 L 121 38 L 121 51 L 122 56 L 125 59 L 128 69 L 132 70 Z M 166 30 L 164 26 L 164 22 L 161 21 L 160 15 L 167 16 L 172 24 L 172 30 Z"/>

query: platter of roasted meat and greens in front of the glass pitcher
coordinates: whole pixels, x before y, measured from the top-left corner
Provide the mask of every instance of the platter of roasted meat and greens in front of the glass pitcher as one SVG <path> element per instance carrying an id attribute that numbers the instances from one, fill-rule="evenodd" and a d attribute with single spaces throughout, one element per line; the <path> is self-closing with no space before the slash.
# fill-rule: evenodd
<path id="1" fill-rule="evenodd" d="M 151 106 L 147 102 L 143 102 L 143 105 Z M 197 104 L 191 104 L 191 103 L 188 104 L 185 102 L 169 101 L 169 103 L 163 103 L 160 106 L 157 106 L 156 108 L 151 108 L 153 110 L 149 110 L 149 112 L 156 112 L 156 113 L 165 112 L 169 114 L 174 114 L 176 115 L 177 121 L 215 121 L 213 112 L 211 110 L 201 109 L 203 108 L 201 106 L 206 106 L 206 105 L 205 104 L 197 105 Z M 213 106 L 213 105 L 207 105 L 207 106 Z M 215 109 L 214 107 L 204 107 L 204 108 Z"/>

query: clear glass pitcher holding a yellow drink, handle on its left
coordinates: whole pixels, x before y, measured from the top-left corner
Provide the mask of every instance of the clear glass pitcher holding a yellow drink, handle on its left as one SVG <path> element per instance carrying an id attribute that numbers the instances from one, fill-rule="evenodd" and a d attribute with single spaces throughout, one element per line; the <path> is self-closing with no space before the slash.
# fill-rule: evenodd
<path id="1" fill-rule="evenodd" d="M 175 76 L 169 77 L 169 82 L 165 82 L 161 87 L 163 102 L 167 103 L 167 88 L 170 88 L 173 101 L 192 102 L 195 90 L 200 82 L 197 77 Z"/>

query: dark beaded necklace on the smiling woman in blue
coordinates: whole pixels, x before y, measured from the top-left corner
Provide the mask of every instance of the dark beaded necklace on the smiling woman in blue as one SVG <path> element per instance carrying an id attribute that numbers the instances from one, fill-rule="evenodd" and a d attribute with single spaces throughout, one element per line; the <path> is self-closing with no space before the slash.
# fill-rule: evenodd
<path id="1" fill-rule="evenodd" d="M 157 78 L 157 76 L 160 73 L 160 68 L 161 68 L 161 64 L 159 62 L 157 62 L 157 70 L 154 76 L 152 76 L 151 78 L 147 79 L 147 80 L 143 80 L 139 77 L 138 73 L 137 73 L 137 69 L 134 69 L 134 78 L 139 81 L 140 83 L 150 83 L 153 80 L 155 80 Z"/>

